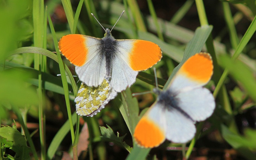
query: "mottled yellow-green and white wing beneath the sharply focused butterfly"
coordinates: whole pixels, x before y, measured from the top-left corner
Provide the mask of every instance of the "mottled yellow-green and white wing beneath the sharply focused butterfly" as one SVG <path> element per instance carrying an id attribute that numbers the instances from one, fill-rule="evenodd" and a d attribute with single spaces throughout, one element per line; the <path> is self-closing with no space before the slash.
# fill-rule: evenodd
<path id="1" fill-rule="evenodd" d="M 98 87 L 89 87 L 82 83 L 75 98 L 76 113 L 80 116 L 94 116 L 116 95 L 106 79 Z"/>

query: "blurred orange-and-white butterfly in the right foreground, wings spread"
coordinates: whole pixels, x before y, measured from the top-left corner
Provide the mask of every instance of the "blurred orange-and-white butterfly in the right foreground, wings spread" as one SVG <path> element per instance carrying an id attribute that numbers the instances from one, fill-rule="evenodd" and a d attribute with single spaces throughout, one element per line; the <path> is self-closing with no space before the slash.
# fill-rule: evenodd
<path id="1" fill-rule="evenodd" d="M 165 139 L 185 143 L 196 133 L 195 123 L 210 117 L 215 108 L 212 93 L 204 88 L 213 74 L 212 57 L 197 53 L 173 77 L 167 90 L 141 117 L 133 138 L 143 148 L 159 146 Z"/>

